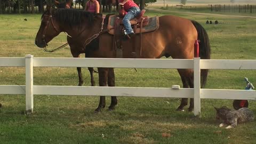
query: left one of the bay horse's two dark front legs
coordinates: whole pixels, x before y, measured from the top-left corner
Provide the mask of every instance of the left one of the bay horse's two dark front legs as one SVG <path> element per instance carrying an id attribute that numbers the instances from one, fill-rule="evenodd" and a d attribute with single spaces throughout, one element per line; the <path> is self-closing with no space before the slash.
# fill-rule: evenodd
<path id="1" fill-rule="evenodd" d="M 108 81 L 108 68 L 98 68 L 99 71 L 99 85 L 100 86 L 107 86 Z M 101 109 L 105 108 L 106 101 L 105 96 L 100 96 L 100 102 L 97 109 L 95 109 L 95 113 L 99 113 Z"/>

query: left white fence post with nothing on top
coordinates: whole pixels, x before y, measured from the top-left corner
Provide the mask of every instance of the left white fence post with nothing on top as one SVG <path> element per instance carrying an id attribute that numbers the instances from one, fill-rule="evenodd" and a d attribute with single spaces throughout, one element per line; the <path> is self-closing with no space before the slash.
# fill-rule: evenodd
<path id="1" fill-rule="evenodd" d="M 26 55 L 26 113 L 33 113 L 34 93 L 33 93 L 33 55 Z"/>

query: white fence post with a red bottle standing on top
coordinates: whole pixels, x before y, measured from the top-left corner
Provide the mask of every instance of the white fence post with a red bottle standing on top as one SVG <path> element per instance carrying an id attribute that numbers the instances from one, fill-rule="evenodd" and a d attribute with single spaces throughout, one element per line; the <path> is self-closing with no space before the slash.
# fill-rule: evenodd
<path id="1" fill-rule="evenodd" d="M 194 115 L 200 117 L 201 99 L 200 99 L 200 58 L 194 58 Z"/>

